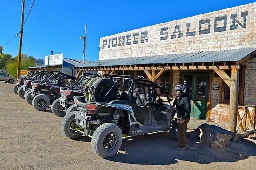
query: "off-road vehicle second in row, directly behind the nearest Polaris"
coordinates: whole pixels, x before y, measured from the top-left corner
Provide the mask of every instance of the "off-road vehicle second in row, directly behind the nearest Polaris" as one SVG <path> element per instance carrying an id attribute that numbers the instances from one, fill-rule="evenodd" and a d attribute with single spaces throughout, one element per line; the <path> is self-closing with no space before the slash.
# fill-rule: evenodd
<path id="1" fill-rule="evenodd" d="M 83 96 L 85 88 L 88 87 L 93 77 L 100 77 L 97 74 L 83 74 L 73 85 L 69 87 L 60 87 L 61 97 L 54 100 L 51 110 L 56 116 L 64 117 L 66 113 L 76 110 L 74 96 Z"/>

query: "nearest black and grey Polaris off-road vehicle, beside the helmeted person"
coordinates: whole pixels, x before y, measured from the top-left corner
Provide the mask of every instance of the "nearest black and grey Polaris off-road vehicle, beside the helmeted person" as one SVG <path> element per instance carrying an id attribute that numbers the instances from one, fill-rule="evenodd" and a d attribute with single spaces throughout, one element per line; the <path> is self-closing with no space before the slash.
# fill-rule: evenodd
<path id="1" fill-rule="evenodd" d="M 61 128 L 69 138 L 91 137 L 92 150 L 99 156 L 115 155 L 124 136 L 170 130 L 175 112 L 168 112 L 172 99 L 165 86 L 130 75 L 105 74 L 91 88 L 92 102 L 74 97 L 77 111 L 66 114 Z"/>

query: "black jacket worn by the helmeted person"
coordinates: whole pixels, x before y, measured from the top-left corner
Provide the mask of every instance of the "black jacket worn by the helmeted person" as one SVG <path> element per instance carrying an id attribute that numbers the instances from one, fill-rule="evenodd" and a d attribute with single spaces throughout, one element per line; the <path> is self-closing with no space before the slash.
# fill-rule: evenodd
<path id="1" fill-rule="evenodd" d="M 173 107 L 176 105 L 177 109 L 177 117 L 181 118 L 183 117 L 184 119 L 190 117 L 191 113 L 191 105 L 190 105 L 190 100 L 187 96 L 181 95 L 180 98 L 175 98 L 173 102 Z"/>

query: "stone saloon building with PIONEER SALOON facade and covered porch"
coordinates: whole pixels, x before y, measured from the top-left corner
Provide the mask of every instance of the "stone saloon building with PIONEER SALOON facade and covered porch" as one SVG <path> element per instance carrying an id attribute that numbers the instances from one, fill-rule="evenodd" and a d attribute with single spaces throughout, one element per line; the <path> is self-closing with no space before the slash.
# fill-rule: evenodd
<path id="1" fill-rule="evenodd" d="M 167 85 L 173 97 L 182 83 L 191 117 L 234 121 L 230 115 L 243 114 L 239 106 L 256 105 L 255 27 L 256 3 L 250 3 L 105 36 L 99 61 L 77 67 L 77 74 L 144 75 Z"/>

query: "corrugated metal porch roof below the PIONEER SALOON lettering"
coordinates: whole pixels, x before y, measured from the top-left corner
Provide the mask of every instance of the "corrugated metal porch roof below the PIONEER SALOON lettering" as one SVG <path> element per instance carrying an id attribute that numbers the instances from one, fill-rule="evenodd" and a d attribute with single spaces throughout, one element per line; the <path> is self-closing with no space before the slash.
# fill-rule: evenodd
<path id="1" fill-rule="evenodd" d="M 129 57 L 107 59 L 84 64 L 78 67 L 116 66 L 134 64 L 167 64 L 167 63 L 202 63 L 202 62 L 230 62 L 239 61 L 256 51 L 256 48 L 243 48 L 223 51 L 202 51 L 197 53 L 156 55 L 145 57 Z"/>

